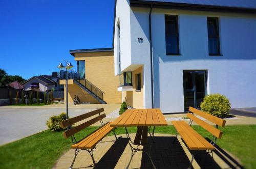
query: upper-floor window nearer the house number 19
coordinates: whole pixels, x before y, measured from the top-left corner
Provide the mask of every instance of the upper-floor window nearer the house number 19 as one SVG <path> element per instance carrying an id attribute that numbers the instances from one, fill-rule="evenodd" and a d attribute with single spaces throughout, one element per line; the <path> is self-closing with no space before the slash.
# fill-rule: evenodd
<path id="1" fill-rule="evenodd" d="M 167 55 L 179 55 L 178 16 L 165 15 L 165 47 Z"/>

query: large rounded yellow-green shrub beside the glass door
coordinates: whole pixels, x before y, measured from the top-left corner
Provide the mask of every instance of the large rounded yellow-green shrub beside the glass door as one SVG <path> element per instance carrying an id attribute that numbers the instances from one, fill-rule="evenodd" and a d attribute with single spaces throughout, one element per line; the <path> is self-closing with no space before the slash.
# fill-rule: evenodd
<path id="1" fill-rule="evenodd" d="M 205 96 L 200 108 L 208 114 L 219 118 L 225 118 L 228 116 L 231 107 L 228 98 L 216 93 Z"/>

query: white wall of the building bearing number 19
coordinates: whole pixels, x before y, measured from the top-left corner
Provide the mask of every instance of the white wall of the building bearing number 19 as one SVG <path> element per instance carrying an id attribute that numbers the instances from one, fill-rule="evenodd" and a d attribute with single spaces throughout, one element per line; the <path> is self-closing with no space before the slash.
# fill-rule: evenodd
<path id="1" fill-rule="evenodd" d="M 144 107 L 151 107 L 148 14 L 149 9 L 131 11 L 131 64 L 144 65 Z M 165 54 L 164 14 L 179 17 L 181 55 Z M 207 16 L 219 17 L 223 56 L 208 55 Z M 143 43 L 138 43 L 138 37 Z M 225 95 L 232 108 L 256 106 L 255 16 L 153 9 L 152 41 L 155 107 L 163 112 L 184 111 L 183 70 L 201 69 L 208 72 L 208 94 Z"/>

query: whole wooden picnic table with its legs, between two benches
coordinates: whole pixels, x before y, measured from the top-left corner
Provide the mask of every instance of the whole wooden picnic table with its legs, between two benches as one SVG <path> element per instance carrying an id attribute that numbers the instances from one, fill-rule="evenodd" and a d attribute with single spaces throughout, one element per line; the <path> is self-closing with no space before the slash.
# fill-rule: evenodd
<path id="1" fill-rule="evenodd" d="M 126 166 L 129 168 L 129 165 L 132 161 L 134 154 L 138 151 L 145 152 L 151 160 L 151 163 L 154 168 L 156 168 L 151 155 L 151 146 L 147 145 L 147 132 L 150 134 L 152 140 L 154 137 L 154 131 L 156 126 L 167 126 L 167 122 L 159 108 L 148 108 L 148 109 L 127 109 L 121 116 L 114 120 L 110 126 L 111 127 L 124 127 L 126 131 L 126 136 L 129 138 L 129 145 L 132 150 L 131 159 Z M 127 127 L 137 127 L 137 132 L 135 135 L 134 142 L 131 140 Z M 151 133 L 150 128 L 154 127 L 153 132 Z M 153 143 L 154 140 L 153 140 Z M 139 148 L 138 146 L 143 146 Z M 146 147 L 145 147 L 146 146 Z M 147 150 L 147 151 L 146 151 Z"/>

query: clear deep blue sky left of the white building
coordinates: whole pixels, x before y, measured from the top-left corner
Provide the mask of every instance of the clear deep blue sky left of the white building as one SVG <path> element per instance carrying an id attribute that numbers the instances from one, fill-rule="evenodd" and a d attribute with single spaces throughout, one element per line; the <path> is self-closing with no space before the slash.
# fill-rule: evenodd
<path id="1" fill-rule="evenodd" d="M 114 0 L 1 0 L 0 68 L 28 79 L 76 65 L 70 49 L 112 47 L 113 17 Z"/>

